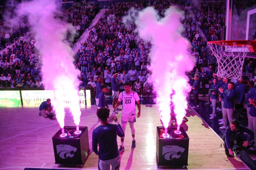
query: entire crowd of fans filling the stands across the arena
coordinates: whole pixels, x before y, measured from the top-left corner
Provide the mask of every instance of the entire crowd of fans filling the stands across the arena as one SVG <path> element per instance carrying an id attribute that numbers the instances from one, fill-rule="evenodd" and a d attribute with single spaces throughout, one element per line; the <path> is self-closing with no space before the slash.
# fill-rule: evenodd
<path id="1" fill-rule="evenodd" d="M 86 41 L 81 43 L 81 48 L 78 49 L 74 56 L 74 63 L 77 69 L 81 71 L 81 76 L 79 77 L 81 81 L 80 87 L 84 87 L 88 83 L 90 84 L 91 79 L 93 82 L 96 82 L 96 77 L 101 76 L 104 79 L 104 83 L 111 88 L 110 75 L 114 71 L 117 71 L 118 78 L 123 78 L 123 82 L 129 80 L 133 85 L 136 82 L 136 78 L 139 78 L 141 88 L 144 88 L 144 83 L 150 76 L 150 72 L 147 70 L 147 65 L 150 64 L 148 57 L 150 43 L 144 44 L 136 33 L 134 33 L 135 25 L 125 26 L 122 23 L 122 17 L 127 14 L 131 7 L 141 10 L 148 5 L 149 3 L 141 1 L 114 3 L 108 6 L 109 9 L 90 30 Z M 164 11 L 170 5 L 174 5 L 180 10 L 185 11 L 185 19 L 182 21 L 184 26 L 182 36 L 191 42 L 191 53 L 196 59 L 196 67 L 194 70 L 188 72 L 188 75 L 193 77 L 195 74 L 198 74 L 201 82 L 203 82 L 203 86 L 209 84 L 212 74 L 217 72 L 217 60 L 207 47 L 207 41 L 221 40 L 222 38 L 223 26 L 225 24 L 225 4 L 223 2 L 200 3 L 196 7 L 192 7 L 192 9 L 196 9 L 193 11 L 194 18 L 185 9 L 185 4 L 178 0 L 156 0 L 151 5 L 154 6 L 162 17 L 164 16 Z M 97 8 L 95 6 L 77 6 L 70 9 L 63 9 L 62 13 L 63 19 L 72 23 L 78 30 L 79 35 L 81 35 L 95 16 L 96 11 Z M 203 30 L 207 40 L 200 35 L 199 30 L 196 29 L 196 25 Z M 23 32 L 26 31 L 25 34 L 20 36 L 19 41 L 15 44 L 8 44 L 8 50 L 6 53 L 3 53 L 1 58 L 3 61 L 0 62 L 0 73 L 3 73 L 4 77 L 10 74 L 12 79 L 15 79 L 20 72 L 21 77 L 24 75 L 26 77 L 28 73 L 32 77 L 40 75 L 38 74 L 38 68 L 40 68 L 37 63 L 38 56 L 33 46 L 34 40 L 31 39 L 27 27 L 21 28 L 20 30 Z M 11 60 L 13 60 L 14 55 L 16 58 L 14 59 L 15 62 L 18 59 L 19 64 L 12 64 Z M 23 62 L 21 63 L 21 61 Z M 9 64 L 7 65 L 5 63 Z M 5 68 L 6 66 L 7 68 Z M 20 72 L 16 71 L 17 69 L 15 67 L 18 70 L 21 67 Z M 253 68 L 254 61 L 246 59 L 244 72 L 252 73 Z M 131 72 L 136 73 L 135 76 L 131 76 Z M 140 74 L 142 74 L 141 77 Z M 40 81 L 40 78 L 38 79 Z M 27 80 L 29 79 L 24 80 L 25 84 L 27 84 Z M 191 85 L 193 84 L 191 81 L 190 83 Z M 1 81 L 1 85 L 6 86 L 8 83 L 6 84 Z M 123 87 L 121 86 L 121 88 Z M 152 87 L 150 86 L 149 89 L 148 91 L 151 92 Z M 145 92 L 147 91 L 146 89 L 144 90 Z M 142 93 L 144 90 L 142 90 Z M 204 92 L 206 90 L 204 89 Z"/>

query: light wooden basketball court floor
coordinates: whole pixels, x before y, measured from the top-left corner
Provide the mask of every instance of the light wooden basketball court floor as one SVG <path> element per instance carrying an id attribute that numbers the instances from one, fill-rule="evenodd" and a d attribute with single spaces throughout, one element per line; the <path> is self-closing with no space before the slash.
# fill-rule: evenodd
<path id="1" fill-rule="evenodd" d="M 75 126 L 66 110 L 65 126 Z M 111 109 L 110 109 L 111 110 Z M 60 129 L 57 120 L 38 115 L 38 108 L 0 108 L 0 169 L 24 167 L 58 168 L 54 164 L 52 136 Z M 188 169 L 247 169 L 236 158 L 228 158 L 220 148 L 221 138 L 190 108 L 188 122 L 183 125 L 189 136 Z M 121 111 L 117 114 L 121 118 Z M 97 122 L 96 106 L 82 108 L 80 126 L 89 130 L 90 149 L 92 131 Z M 120 154 L 120 169 L 158 169 L 156 165 L 156 126 L 161 126 L 156 105 L 141 105 L 141 116 L 136 119 L 136 148 L 132 149 L 129 125 L 124 140 L 125 151 Z M 118 140 L 118 147 L 120 138 Z M 98 156 L 92 151 L 82 169 L 98 169 Z M 66 168 L 67 167 L 61 167 Z"/>

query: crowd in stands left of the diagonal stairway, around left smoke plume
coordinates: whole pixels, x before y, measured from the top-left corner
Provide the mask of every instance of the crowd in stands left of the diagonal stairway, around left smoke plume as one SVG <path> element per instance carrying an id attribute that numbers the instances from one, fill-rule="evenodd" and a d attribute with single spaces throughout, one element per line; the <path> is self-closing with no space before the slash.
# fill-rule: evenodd
<path id="1" fill-rule="evenodd" d="M 78 38 L 89 26 L 98 10 L 94 5 L 76 6 L 63 9 L 62 14 L 64 17 L 62 16 L 61 18 L 77 29 L 76 38 Z M 0 20 L 1 47 L 5 48 L 7 43 L 6 52 L 3 51 L 3 54 L 0 55 L 1 88 L 14 88 L 18 83 L 22 83 L 21 86 L 25 88 L 43 88 L 40 75 L 40 57 L 34 47 L 36 41 L 33 35 L 30 34 L 27 25 L 24 23 L 23 27 L 10 29 L 4 25 L 3 19 Z M 18 39 L 11 43 L 16 37 Z"/>

